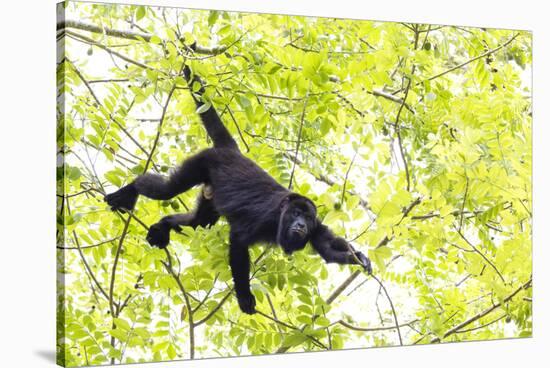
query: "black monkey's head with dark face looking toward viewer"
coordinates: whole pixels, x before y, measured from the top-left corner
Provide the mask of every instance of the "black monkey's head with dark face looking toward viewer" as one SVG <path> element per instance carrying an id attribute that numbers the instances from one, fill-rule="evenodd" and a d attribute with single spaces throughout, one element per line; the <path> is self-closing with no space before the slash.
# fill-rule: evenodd
<path id="1" fill-rule="evenodd" d="M 317 223 L 317 209 L 310 199 L 296 193 L 286 196 L 280 206 L 277 243 L 290 255 L 309 241 Z"/>

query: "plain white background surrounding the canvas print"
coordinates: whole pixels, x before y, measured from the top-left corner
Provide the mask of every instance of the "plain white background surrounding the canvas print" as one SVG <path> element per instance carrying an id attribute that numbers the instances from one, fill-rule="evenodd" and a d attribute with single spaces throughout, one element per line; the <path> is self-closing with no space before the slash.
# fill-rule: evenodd
<path id="1" fill-rule="evenodd" d="M 550 22 L 543 0 L 118 2 L 516 28 L 534 32 L 534 338 L 132 367 L 548 366 L 550 252 L 545 213 L 550 204 L 547 189 Z M 0 17 L 0 365 L 50 367 L 55 365 L 55 1 L 12 0 L 2 5 Z"/>

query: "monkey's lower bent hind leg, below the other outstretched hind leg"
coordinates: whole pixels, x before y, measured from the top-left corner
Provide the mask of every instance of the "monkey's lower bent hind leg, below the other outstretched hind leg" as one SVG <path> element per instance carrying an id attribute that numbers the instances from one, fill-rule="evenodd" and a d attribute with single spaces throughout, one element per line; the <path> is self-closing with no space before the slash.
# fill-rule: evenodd
<path id="1" fill-rule="evenodd" d="M 179 213 L 163 217 L 159 222 L 151 225 L 147 234 L 147 241 L 154 247 L 166 248 L 170 243 L 170 230 L 181 231 L 182 226 L 207 227 L 218 221 L 220 215 L 212 200 L 199 196 L 197 207 L 193 212 Z"/>

